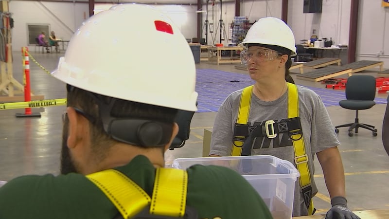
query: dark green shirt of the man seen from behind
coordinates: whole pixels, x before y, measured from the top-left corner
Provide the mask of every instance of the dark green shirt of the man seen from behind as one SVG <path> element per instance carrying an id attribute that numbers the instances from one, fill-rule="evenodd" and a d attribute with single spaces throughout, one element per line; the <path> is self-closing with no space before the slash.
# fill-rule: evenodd
<path id="1" fill-rule="evenodd" d="M 116 169 L 151 196 L 155 168 L 146 157 Z M 194 165 L 187 171 L 187 205 L 197 209 L 199 218 L 272 218 L 254 188 L 234 170 Z M 112 219 L 117 213 L 81 174 L 22 176 L 0 188 L 0 219 Z"/>

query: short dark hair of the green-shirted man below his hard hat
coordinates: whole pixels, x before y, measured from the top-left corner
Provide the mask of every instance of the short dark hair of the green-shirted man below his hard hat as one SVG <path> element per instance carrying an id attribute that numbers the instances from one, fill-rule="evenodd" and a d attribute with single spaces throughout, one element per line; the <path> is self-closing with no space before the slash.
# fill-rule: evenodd
<path id="1" fill-rule="evenodd" d="M 70 85 L 68 85 L 67 88 L 68 106 L 77 107 L 80 110 L 83 110 L 85 114 L 89 114 L 92 118 L 94 118 L 93 122 L 89 121 L 89 123 L 91 124 L 91 144 L 93 146 L 94 152 L 97 152 L 96 155 L 101 156 L 100 159 L 104 159 L 106 149 L 108 149 L 117 141 L 110 137 L 103 128 L 103 121 L 100 117 L 99 105 L 96 102 L 95 98 L 92 97 L 92 95 L 97 94 L 85 91 L 80 88 L 72 87 Z M 131 117 L 139 119 L 149 119 L 153 121 L 172 124 L 173 126 L 177 114 L 177 110 L 172 108 L 132 102 L 100 94 L 99 97 L 99 99 L 102 99 L 105 103 L 109 103 L 112 99 L 115 99 L 115 103 L 112 107 L 110 114 L 112 117 L 116 118 Z"/>

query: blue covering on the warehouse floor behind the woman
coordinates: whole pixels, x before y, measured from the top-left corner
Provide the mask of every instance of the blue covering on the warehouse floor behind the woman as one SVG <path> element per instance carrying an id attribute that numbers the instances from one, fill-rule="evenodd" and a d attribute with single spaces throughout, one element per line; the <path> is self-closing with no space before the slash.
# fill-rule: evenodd
<path id="1" fill-rule="evenodd" d="M 230 93 L 254 84 L 254 81 L 247 74 L 214 69 L 197 69 L 196 72 L 197 112 L 216 112 Z M 346 99 L 344 90 L 305 87 L 315 91 L 326 107 L 339 106 L 339 101 Z M 374 101 L 376 104 L 387 103 L 384 98 L 375 98 Z"/>

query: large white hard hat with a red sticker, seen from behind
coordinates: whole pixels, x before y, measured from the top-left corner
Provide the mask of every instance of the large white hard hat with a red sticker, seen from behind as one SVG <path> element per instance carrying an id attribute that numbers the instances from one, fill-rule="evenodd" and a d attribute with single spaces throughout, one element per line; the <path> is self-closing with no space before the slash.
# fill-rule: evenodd
<path id="1" fill-rule="evenodd" d="M 195 111 L 195 60 L 170 18 L 142 4 L 118 4 L 71 37 L 54 77 L 119 99 Z"/>

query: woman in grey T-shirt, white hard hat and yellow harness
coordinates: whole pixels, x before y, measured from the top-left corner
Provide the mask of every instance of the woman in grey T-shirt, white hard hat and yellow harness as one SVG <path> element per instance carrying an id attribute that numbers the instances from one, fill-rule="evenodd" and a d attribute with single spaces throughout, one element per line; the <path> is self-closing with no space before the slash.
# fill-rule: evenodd
<path id="1" fill-rule="evenodd" d="M 316 154 L 331 196 L 326 219 L 359 219 L 347 207 L 340 143 L 327 110 L 314 91 L 294 85 L 289 75 L 290 56 L 296 55 L 291 29 L 279 18 L 262 18 L 241 44 L 246 48 L 242 62 L 255 83 L 231 93 L 220 106 L 210 156 L 266 154 L 295 164 L 300 178 L 293 216 L 304 216 L 315 212 Z"/>

